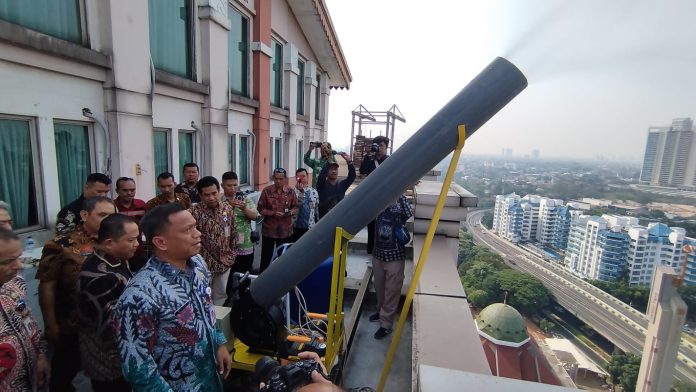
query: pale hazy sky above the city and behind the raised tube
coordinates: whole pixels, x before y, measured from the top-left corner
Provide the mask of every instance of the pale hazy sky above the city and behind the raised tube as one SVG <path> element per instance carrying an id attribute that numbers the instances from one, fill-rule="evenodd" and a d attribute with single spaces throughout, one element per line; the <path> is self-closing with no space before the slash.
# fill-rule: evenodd
<path id="1" fill-rule="evenodd" d="M 496 56 L 529 87 L 465 154 L 640 161 L 649 126 L 696 118 L 696 0 L 325 1 L 353 75 L 331 92 L 337 146 L 359 104 L 396 104 L 402 144 Z"/>

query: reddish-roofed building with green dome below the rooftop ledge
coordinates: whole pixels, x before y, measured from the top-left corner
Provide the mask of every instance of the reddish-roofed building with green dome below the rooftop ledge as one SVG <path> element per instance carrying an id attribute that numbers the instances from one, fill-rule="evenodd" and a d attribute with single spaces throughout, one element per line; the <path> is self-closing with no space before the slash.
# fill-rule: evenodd
<path id="1" fill-rule="evenodd" d="M 515 308 L 487 306 L 476 318 L 476 328 L 494 376 L 561 385 Z"/>

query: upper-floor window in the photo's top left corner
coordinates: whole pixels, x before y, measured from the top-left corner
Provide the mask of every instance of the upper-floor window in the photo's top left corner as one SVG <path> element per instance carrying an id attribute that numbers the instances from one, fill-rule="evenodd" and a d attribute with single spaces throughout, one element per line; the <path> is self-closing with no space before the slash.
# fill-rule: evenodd
<path id="1" fill-rule="evenodd" d="M 83 44 L 79 0 L 0 0 L 0 19 Z"/>

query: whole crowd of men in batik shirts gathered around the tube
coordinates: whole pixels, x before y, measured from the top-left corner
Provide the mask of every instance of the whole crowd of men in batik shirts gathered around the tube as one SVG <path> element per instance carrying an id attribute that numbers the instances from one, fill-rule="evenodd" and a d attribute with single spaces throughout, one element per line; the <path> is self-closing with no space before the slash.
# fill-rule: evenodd
<path id="1" fill-rule="evenodd" d="M 381 149 L 363 162 L 364 174 L 386 159 L 389 140 L 375 140 Z M 319 159 L 310 157 L 314 148 Z M 335 155 L 348 164 L 342 181 Z M 116 181 L 112 200 L 111 179 L 90 174 L 43 247 L 36 274 L 43 334 L 19 274 L 22 245 L 0 202 L 0 391 L 71 391 L 80 370 L 94 391 L 221 391 L 231 359 L 213 305 L 226 303 L 233 272 L 253 268 L 252 222 L 263 216 L 260 273 L 277 246 L 299 240 L 344 198 L 356 176 L 350 157 L 327 143 L 313 144 L 305 163 L 316 189 L 306 169 L 296 171 L 290 187 L 286 171 L 276 168 L 258 203 L 239 191 L 236 173 L 224 173 L 222 182 L 199 178 L 195 163 L 184 166 L 179 185 L 171 173 L 158 175 L 159 195 L 147 202 L 135 198 L 132 178 Z M 391 332 L 403 282 L 404 247 L 393 229 L 411 215 L 401 197 L 369 233 L 376 339 Z"/>

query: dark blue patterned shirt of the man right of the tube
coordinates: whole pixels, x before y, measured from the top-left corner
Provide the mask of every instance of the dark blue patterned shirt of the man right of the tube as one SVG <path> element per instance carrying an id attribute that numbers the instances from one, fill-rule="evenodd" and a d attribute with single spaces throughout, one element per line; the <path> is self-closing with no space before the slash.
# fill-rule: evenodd
<path id="1" fill-rule="evenodd" d="M 394 229 L 406 224 L 408 218 L 413 216 L 411 204 L 406 196 L 399 196 L 399 200 L 387 207 L 375 219 L 375 248 L 372 255 L 380 261 L 404 261 L 406 259 L 405 247 L 396 240 Z"/>

